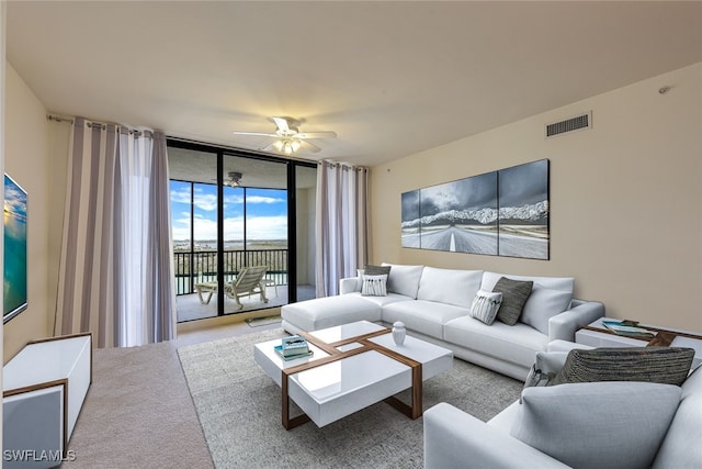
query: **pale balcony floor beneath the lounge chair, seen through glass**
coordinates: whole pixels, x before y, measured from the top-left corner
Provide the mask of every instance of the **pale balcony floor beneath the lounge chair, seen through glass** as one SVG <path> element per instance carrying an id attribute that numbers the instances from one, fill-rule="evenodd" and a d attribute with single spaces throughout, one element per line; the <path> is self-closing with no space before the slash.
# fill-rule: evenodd
<path id="1" fill-rule="evenodd" d="M 276 292 L 278 288 L 278 292 Z M 263 310 L 267 308 L 279 308 L 287 304 L 287 286 L 279 284 L 278 287 L 268 287 L 265 289 L 265 295 L 268 297 L 268 303 L 261 301 L 259 294 L 251 294 L 250 297 L 241 297 L 239 301 L 244 304 L 244 309 L 237 309 L 237 302 L 225 297 L 225 314 L 231 313 L 248 313 L 256 310 Z M 203 298 L 206 298 L 203 295 Z M 298 286 L 297 287 L 297 301 L 310 300 L 315 298 L 314 286 Z M 215 317 L 217 315 L 217 297 L 213 294 L 208 304 L 202 304 L 197 298 L 197 293 L 181 294 L 176 297 L 176 306 L 178 311 L 178 322 L 203 320 L 207 317 Z"/>

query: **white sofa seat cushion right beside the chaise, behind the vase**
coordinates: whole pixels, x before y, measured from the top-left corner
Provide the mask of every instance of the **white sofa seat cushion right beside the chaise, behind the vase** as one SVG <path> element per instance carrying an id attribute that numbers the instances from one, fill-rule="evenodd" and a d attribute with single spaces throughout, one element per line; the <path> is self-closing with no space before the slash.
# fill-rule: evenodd
<path id="1" fill-rule="evenodd" d="M 386 323 L 400 321 L 408 330 L 435 338 L 443 338 L 446 322 L 467 314 L 465 308 L 423 300 L 396 302 L 383 308 L 383 321 Z"/>

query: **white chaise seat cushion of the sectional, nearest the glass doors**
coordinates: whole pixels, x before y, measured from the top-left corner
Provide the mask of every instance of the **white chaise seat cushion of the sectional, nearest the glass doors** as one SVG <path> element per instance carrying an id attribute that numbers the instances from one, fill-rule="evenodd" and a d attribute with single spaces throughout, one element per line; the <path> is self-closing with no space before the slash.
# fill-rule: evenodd
<path id="1" fill-rule="evenodd" d="M 281 309 L 281 316 L 306 332 L 355 321 L 381 321 L 381 306 L 373 301 L 367 301 L 365 298 L 371 297 L 361 298 L 351 293 L 301 301 L 299 303 L 284 305 Z"/>

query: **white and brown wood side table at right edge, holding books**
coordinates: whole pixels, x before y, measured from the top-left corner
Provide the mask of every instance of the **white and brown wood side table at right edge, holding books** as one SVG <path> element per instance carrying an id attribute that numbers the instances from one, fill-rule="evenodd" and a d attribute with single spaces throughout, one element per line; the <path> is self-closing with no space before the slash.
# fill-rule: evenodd
<path id="1" fill-rule="evenodd" d="M 602 320 L 607 319 L 609 317 L 600 317 L 576 331 L 575 342 L 590 347 L 645 347 L 654 345 L 688 347 L 694 349 L 692 368 L 702 364 L 702 335 L 700 334 L 688 331 L 664 330 L 648 324 L 641 324 L 641 327 L 655 332 L 656 336 L 652 339 L 646 337 L 630 337 L 615 334 L 604 327 Z"/>

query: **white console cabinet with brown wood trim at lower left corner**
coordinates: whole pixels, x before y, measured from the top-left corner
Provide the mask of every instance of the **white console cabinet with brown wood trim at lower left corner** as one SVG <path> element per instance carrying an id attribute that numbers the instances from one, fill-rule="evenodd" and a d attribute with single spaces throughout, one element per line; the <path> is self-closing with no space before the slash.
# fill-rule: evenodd
<path id="1" fill-rule="evenodd" d="M 92 381 L 92 335 L 31 342 L 2 368 L 2 467 L 60 465 Z"/>

